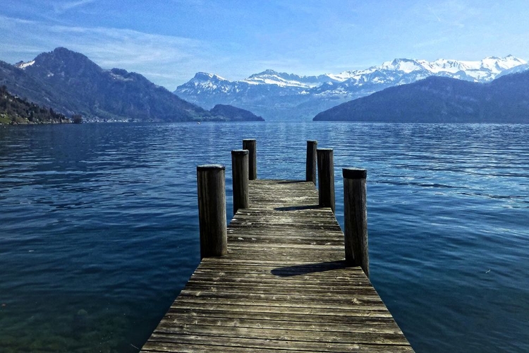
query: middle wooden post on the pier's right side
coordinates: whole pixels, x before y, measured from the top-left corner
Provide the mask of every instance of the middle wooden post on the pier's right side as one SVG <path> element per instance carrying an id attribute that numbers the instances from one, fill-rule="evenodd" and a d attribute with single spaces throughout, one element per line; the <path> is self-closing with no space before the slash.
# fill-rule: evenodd
<path id="1" fill-rule="evenodd" d="M 316 152 L 319 204 L 322 207 L 330 207 L 334 213 L 334 158 L 332 148 L 318 148 Z"/>

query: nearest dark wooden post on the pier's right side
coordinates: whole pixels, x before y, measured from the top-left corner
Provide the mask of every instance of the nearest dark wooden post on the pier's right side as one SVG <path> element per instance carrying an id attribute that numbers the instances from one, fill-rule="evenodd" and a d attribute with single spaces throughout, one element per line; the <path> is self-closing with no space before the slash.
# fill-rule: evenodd
<path id="1" fill-rule="evenodd" d="M 343 168 L 343 222 L 346 263 L 360 266 L 369 277 L 367 251 L 367 170 Z"/>

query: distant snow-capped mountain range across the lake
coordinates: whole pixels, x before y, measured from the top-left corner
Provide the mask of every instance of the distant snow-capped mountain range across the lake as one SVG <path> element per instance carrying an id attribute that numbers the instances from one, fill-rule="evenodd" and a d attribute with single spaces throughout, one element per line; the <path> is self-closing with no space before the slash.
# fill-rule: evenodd
<path id="1" fill-rule="evenodd" d="M 233 104 L 267 120 L 311 119 L 318 112 L 395 85 L 428 76 L 471 82 L 489 82 L 526 61 L 512 55 L 490 56 L 480 61 L 394 59 L 364 70 L 298 76 L 266 70 L 231 81 L 211 73 L 197 73 L 174 93 L 206 109 Z"/>

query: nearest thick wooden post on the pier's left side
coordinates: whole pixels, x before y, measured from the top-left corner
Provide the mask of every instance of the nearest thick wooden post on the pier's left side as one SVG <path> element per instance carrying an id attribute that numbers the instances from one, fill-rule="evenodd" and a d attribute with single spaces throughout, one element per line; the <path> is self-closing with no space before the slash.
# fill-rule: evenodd
<path id="1" fill-rule="evenodd" d="M 224 165 L 205 164 L 197 167 L 200 258 L 228 253 L 225 174 Z"/>

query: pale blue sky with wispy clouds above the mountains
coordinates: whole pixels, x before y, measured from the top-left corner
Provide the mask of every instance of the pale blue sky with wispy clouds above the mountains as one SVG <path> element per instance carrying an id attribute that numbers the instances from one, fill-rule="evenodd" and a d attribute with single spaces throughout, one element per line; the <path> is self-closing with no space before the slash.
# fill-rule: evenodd
<path id="1" fill-rule="evenodd" d="M 312 76 L 396 58 L 529 61 L 528 0 L 0 0 L 0 60 L 66 47 L 175 90 L 197 72 Z"/>

